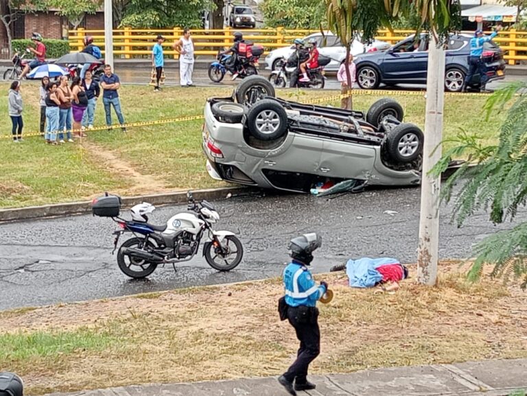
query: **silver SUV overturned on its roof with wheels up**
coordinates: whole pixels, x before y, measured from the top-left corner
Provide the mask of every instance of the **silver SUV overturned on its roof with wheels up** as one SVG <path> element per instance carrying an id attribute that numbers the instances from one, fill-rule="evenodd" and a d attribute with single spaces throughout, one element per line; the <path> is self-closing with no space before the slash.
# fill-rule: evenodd
<path id="1" fill-rule="evenodd" d="M 421 181 L 423 132 L 403 108 L 380 99 L 366 114 L 275 97 L 261 76 L 204 108 L 202 148 L 209 175 L 248 186 L 308 193 L 316 184 L 355 180 L 407 186 Z"/>

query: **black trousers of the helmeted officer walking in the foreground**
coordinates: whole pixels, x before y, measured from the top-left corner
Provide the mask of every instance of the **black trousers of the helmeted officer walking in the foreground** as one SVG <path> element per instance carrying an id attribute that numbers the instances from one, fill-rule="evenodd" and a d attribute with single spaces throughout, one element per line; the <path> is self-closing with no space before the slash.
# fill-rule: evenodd
<path id="1" fill-rule="evenodd" d="M 295 308 L 289 308 L 288 320 L 296 331 L 296 338 L 300 341 L 300 348 L 298 348 L 296 360 L 283 376 L 290 382 L 296 380 L 296 384 L 305 384 L 307 382 L 309 364 L 320 354 L 318 318 L 314 318 L 310 323 L 299 323 Z"/>

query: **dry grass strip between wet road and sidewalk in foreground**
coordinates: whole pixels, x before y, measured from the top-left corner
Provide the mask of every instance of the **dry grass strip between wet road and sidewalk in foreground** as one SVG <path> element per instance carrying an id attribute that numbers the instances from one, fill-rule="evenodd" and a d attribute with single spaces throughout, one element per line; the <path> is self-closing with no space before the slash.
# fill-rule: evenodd
<path id="1" fill-rule="evenodd" d="M 335 297 L 319 304 L 311 373 L 526 358 L 524 292 L 467 284 L 458 271 L 444 262 L 437 287 L 410 279 L 393 294 L 317 275 Z M 275 278 L 0 312 L 0 367 L 22 376 L 27 395 L 279 375 L 298 348 L 278 319 L 282 292 Z"/>

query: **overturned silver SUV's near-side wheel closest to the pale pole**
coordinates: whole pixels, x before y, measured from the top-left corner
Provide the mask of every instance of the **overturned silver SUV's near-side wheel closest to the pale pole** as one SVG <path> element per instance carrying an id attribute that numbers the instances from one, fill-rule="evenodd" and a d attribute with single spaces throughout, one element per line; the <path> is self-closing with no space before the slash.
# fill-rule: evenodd
<path id="1" fill-rule="evenodd" d="M 401 123 L 388 132 L 386 153 L 397 164 L 408 164 L 423 154 L 424 134 L 419 127 Z"/>

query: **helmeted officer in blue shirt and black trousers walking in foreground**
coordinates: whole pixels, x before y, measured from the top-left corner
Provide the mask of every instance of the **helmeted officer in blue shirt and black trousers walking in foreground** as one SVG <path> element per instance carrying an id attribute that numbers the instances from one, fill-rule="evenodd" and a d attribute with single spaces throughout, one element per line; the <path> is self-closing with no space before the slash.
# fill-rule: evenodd
<path id="1" fill-rule="evenodd" d="M 291 395 L 296 395 L 295 390 L 307 391 L 316 387 L 307 381 L 307 369 L 309 363 L 320 354 L 316 301 L 326 293 L 327 283 L 320 282 L 320 286 L 317 286 L 307 266 L 313 260 L 313 251 L 320 245 L 322 237 L 316 233 L 293 238 L 289 244 L 292 261 L 283 271 L 287 317 L 300 341 L 296 360 L 288 371 L 278 378 L 278 382 Z"/>

